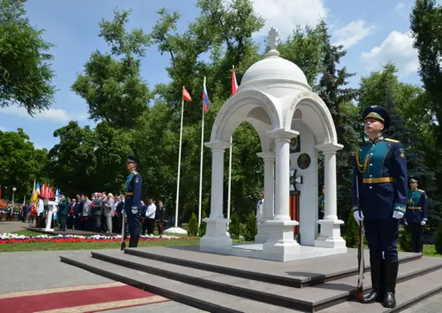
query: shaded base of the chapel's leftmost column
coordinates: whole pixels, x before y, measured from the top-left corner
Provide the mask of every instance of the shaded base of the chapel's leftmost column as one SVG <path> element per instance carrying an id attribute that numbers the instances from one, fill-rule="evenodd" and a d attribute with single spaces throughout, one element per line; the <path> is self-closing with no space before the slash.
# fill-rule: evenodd
<path id="1" fill-rule="evenodd" d="M 207 223 L 207 228 L 200 240 L 200 251 L 215 252 L 220 249 L 231 249 L 232 238 L 225 232 L 230 220 L 208 217 L 204 221 Z"/>

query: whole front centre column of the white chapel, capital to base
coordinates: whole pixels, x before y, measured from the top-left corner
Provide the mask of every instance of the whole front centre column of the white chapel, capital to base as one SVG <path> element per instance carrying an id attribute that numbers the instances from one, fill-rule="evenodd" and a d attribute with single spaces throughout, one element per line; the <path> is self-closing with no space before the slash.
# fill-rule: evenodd
<path id="1" fill-rule="evenodd" d="M 275 193 L 274 193 L 274 217 L 267 220 L 269 227 L 269 239 L 264 243 L 262 251 L 280 255 L 282 260 L 289 260 L 289 255 L 299 253 L 299 244 L 293 239 L 293 227 L 299 225 L 291 220 L 289 212 L 290 196 L 290 139 L 299 135 L 297 131 L 279 128 L 267 132 L 275 141 L 276 167 Z M 265 200 L 264 200 L 265 203 Z"/>

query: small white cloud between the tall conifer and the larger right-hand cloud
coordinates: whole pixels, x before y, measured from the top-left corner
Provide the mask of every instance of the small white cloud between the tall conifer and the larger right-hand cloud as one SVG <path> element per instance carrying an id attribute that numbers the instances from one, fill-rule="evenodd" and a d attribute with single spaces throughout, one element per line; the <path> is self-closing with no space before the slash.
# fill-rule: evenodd
<path id="1" fill-rule="evenodd" d="M 336 46 L 343 45 L 344 48 L 348 49 L 366 36 L 369 36 L 373 29 L 374 26 L 366 25 L 366 21 L 363 19 L 357 19 L 340 29 L 336 29 L 336 31 L 333 32 L 332 38 L 335 40 L 334 44 Z"/>

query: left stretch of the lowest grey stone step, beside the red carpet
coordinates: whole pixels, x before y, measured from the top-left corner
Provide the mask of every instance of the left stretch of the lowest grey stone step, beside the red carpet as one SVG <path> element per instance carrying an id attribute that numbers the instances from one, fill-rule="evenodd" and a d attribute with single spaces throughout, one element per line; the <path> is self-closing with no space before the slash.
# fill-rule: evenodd
<path id="1" fill-rule="evenodd" d="M 299 313 L 295 309 L 284 309 L 272 304 L 245 299 L 216 292 L 210 289 L 185 284 L 173 279 L 159 277 L 88 256 L 63 257 L 61 262 L 80 267 L 94 274 L 114 279 L 125 284 L 158 294 L 162 297 L 213 313 Z"/>

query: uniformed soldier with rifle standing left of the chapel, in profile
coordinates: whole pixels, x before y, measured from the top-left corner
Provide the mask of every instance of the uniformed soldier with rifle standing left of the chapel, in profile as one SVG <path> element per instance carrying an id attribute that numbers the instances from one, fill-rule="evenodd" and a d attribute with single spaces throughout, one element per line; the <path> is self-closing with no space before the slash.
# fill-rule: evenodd
<path id="1" fill-rule="evenodd" d="M 139 164 L 140 160 L 138 158 L 133 155 L 128 156 L 126 167 L 130 173 L 125 185 L 124 210 L 128 216 L 129 247 L 138 247 L 138 240 L 140 239 L 141 186 L 143 185 L 143 179 L 137 171 Z"/>

